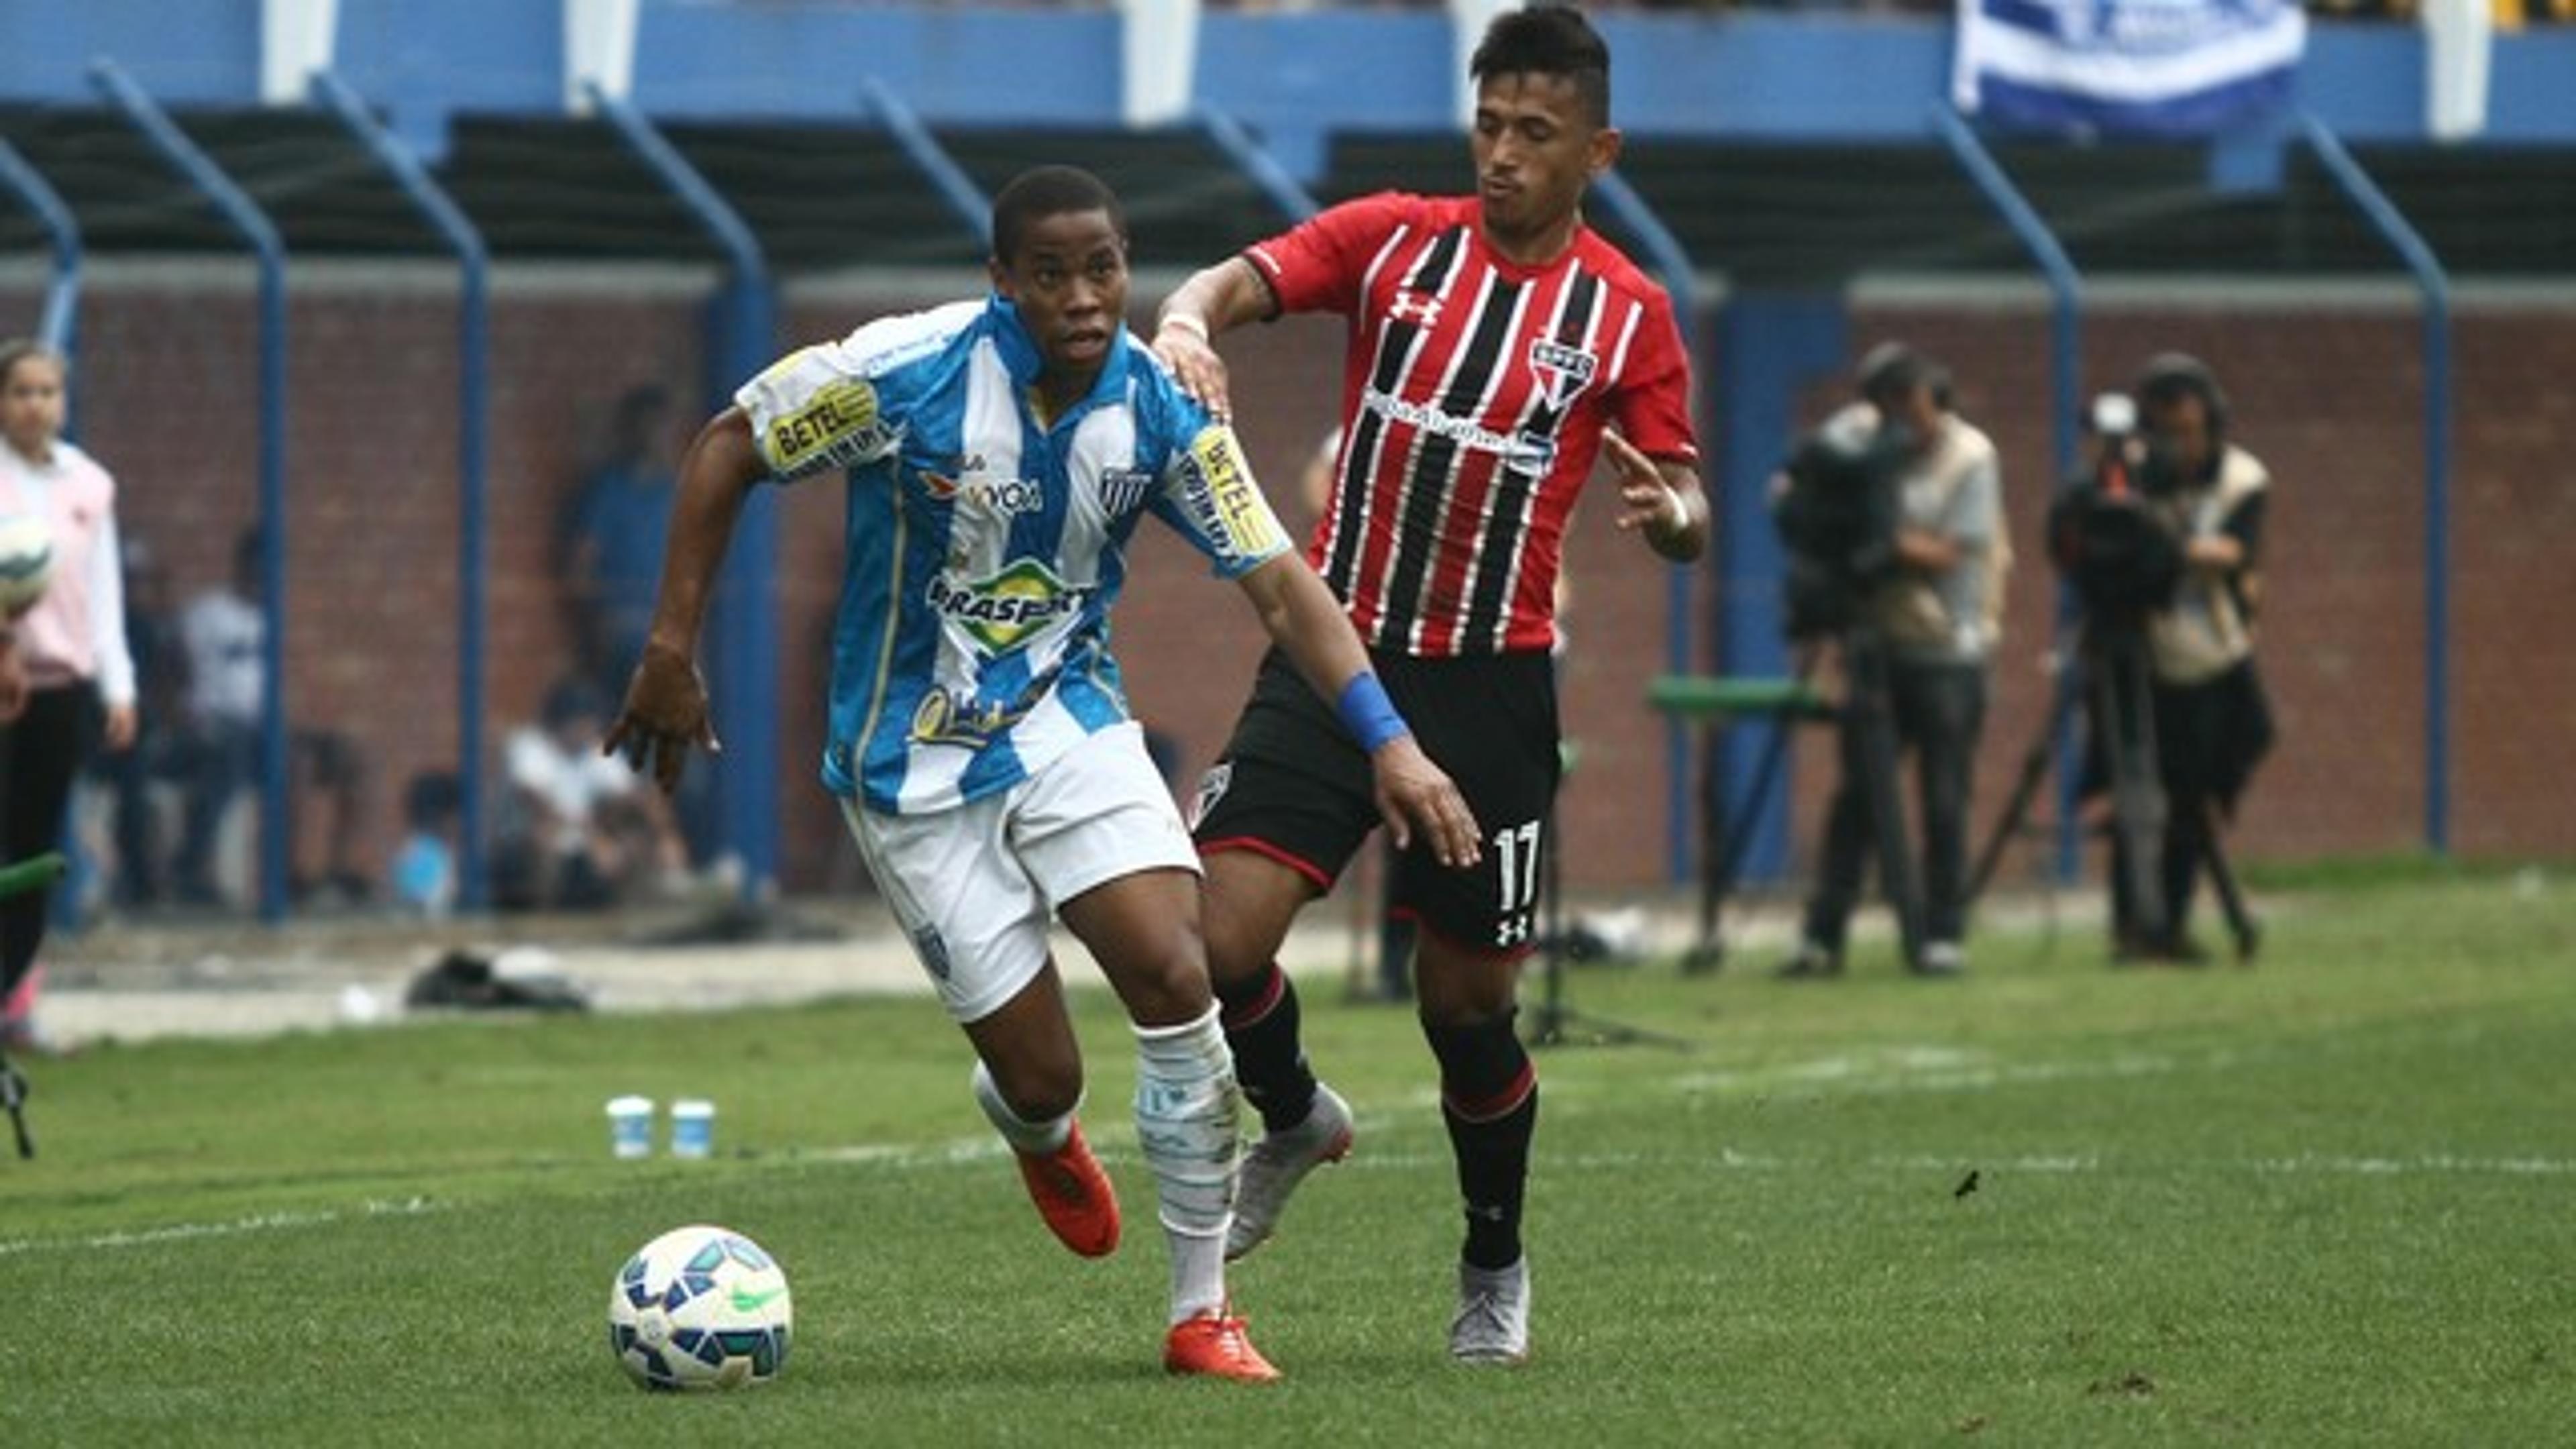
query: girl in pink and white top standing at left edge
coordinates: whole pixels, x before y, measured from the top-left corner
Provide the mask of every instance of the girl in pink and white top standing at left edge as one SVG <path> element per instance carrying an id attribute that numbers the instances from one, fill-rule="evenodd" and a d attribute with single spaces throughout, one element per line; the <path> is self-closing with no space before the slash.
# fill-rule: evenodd
<path id="1" fill-rule="evenodd" d="M 21 619 L 0 624 L 26 676 L 26 704 L 0 727 L 0 861 L 62 841 L 62 812 L 93 743 L 134 743 L 134 657 L 116 544 L 116 480 L 62 438 L 64 361 L 0 343 L 0 508 L 41 513 L 54 529 L 54 580 Z M 52 890 L 0 900 L 0 1000 L 36 964 Z M 33 1018 L 13 1016 L 0 1042 L 33 1044 Z"/>

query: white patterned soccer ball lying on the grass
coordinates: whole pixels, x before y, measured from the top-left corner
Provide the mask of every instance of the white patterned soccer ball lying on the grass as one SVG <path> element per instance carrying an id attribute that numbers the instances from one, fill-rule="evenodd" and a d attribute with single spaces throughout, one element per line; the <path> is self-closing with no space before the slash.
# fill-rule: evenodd
<path id="1" fill-rule="evenodd" d="M 647 1390 L 765 1385 L 788 1361 L 788 1276 L 729 1227 L 675 1227 L 618 1269 L 608 1351 Z"/>

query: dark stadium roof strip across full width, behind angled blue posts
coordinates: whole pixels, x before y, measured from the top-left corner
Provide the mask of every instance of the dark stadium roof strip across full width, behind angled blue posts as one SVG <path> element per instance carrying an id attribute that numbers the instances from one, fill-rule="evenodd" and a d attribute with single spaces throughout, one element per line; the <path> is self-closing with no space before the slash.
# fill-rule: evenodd
<path id="1" fill-rule="evenodd" d="M 294 255 L 443 255 L 384 168 L 312 108 L 178 111 L 175 121 L 278 222 Z M 672 147 L 742 214 L 773 268 L 974 266 L 966 219 L 881 126 L 667 124 Z M 113 111 L 0 108 L 0 137 L 62 193 L 98 253 L 234 253 L 237 240 Z M 938 126 L 935 144 L 987 196 L 1028 165 L 1072 160 L 1123 199 L 1141 266 L 1198 266 L 1288 224 L 1206 131 Z M 2391 255 L 2311 152 L 2282 183 L 2223 191 L 2195 144 L 1999 142 L 1996 162 L 2087 273 L 2352 276 Z M 2576 271 L 2568 147 L 2380 144 L 2362 165 L 2452 276 Z M 1754 286 L 1837 286 L 1868 271 L 2020 273 L 2027 258 L 1960 168 L 1929 144 L 1631 137 L 1620 173 L 1703 273 Z M 613 126 L 459 116 L 438 180 L 497 258 L 721 260 L 690 211 Z M 1319 199 L 1458 191 L 1455 134 L 1340 134 Z M 1636 253 L 1615 217 L 1597 217 Z M 0 206 L 0 250 L 41 248 Z"/>

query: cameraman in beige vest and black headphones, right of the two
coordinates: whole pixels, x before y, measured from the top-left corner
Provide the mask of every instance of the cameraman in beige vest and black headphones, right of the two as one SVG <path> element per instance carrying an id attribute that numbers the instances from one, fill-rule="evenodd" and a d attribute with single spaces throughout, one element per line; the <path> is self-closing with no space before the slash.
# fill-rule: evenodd
<path id="1" fill-rule="evenodd" d="M 2112 833 L 2115 957 L 2205 959 L 2190 938 L 2192 892 L 2221 820 L 2272 748 L 2272 709 L 2254 673 L 2262 526 L 2269 474 L 2228 441 L 2228 400 L 2197 358 L 2164 353 L 2138 376 L 2143 508 L 2179 544 L 2179 578 L 2146 614 L 2156 773 L 2164 786 L 2161 915 L 2146 918 L 2123 830 Z"/>

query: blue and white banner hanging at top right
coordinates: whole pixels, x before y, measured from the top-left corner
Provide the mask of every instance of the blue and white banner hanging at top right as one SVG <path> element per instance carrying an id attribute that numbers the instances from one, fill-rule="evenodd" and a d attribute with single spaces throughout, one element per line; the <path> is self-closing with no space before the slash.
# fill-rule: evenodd
<path id="1" fill-rule="evenodd" d="M 1958 108 L 1996 126 L 2205 137 L 2290 98 L 2295 0 L 1958 0 Z"/>

